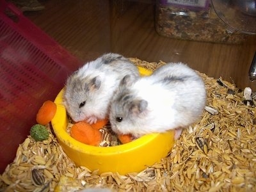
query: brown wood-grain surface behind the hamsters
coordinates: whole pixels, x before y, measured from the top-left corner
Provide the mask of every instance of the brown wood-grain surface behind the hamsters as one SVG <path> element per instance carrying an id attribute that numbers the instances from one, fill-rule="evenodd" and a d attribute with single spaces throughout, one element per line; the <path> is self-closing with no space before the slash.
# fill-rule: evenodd
<path id="1" fill-rule="evenodd" d="M 234 81 L 239 88 L 248 78 L 256 36 L 240 45 L 175 40 L 154 27 L 153 0 L 44 0 L 45 10 L 25 12 L 37 26 L 82 61 L 104 52 L 118 52 L 146 61 L 182 61 L 210 77 Z M 231 79 L 230 79 L 231 78 Z"/>

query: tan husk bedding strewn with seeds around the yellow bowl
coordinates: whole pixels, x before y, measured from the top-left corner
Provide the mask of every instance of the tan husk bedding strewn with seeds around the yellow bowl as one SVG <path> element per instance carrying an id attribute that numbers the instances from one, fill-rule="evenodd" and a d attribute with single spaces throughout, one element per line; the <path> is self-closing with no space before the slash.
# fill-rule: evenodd
<path id="1" fill-rule="evenodd" d="M 165 64 L 130 59 L 150 70 Z M 97 170 L 76 167 L 48 125 L 48 140 L 28 136 L 19 145 L 13 163 L 0 175 L 0 191 L 256 191 L 256 108 L 244 104 L 243 90 L 234 84 L 200 76 L 207 106 L 218 113 L 205 110 L 161 162 L 140 173 L 97 175 Z"/>

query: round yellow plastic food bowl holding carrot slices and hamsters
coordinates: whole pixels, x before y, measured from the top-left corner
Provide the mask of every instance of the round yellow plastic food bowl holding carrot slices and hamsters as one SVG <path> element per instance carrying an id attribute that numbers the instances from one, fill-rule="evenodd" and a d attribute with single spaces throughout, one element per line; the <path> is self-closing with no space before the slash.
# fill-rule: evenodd
<path id="1" fill-rule="evenodd" d="M 141 76 L 152 72 L 138 67 Z M 142 136 L 137 140 L 114 147 L 94 147 L 72 138 L 66 131 L 67 113 L 63 106 L 63 90 L 54 102 L 57 104 L 56 115 L 52 119 L 52 127 L 64 152 L 77 166 L 85 166 L 90 170 L 118 172 L 122 175 L 141 172 L 147 166 L 161 161 L 172 149 L 174 132 L 154 133 Z"/>

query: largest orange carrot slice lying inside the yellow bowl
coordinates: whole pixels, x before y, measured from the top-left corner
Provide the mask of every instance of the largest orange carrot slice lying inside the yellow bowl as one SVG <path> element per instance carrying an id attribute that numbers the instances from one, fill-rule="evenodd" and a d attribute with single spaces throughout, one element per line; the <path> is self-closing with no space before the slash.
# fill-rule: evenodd
<path id="1" fill-rule="evenodd" d="M 86 122 L 78 122 L 70 129 L 70 136 L 77 141 L 87 145 L 99 146 L 102 140 L 102 134 L 98 129 L 93 129 Z"/>

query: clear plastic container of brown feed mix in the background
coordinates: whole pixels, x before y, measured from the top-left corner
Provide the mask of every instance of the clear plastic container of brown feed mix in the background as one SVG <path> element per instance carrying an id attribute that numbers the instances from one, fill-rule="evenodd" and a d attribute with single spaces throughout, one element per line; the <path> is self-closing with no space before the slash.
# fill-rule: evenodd
<path id="1" fill-rule="evenodd" d="M 227 44 L 246 38 L 216 15 L 209 0 L 157 0 L 156 31 L 171 38 Z"/>

